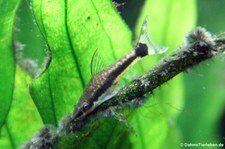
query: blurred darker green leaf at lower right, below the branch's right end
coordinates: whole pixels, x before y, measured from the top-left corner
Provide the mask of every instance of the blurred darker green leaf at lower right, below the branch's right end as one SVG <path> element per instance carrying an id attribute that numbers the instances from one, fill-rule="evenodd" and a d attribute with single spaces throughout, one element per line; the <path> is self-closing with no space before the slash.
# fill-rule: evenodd
<path id="1" fill-rule="evenodd" d="M 206 61 L 185 75 L 186 112 L 179 117 L 184 142 L 221 143 L 218 125 L 225 102 L 221 62 L 221 57 Z"/>

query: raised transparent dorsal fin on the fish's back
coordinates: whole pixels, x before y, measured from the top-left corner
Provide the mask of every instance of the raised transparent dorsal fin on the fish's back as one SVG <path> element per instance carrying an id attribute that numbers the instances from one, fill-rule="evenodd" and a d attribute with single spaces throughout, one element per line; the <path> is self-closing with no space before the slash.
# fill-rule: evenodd
<path id="1" fill-rule="evenodd" d="M 100 56 L 98 49 L 96 49 L 91 59 L 91 75 L 95 76 L 97 73 L 102 71 L 105 67 L 106 65 L 104 64 L 104 61 L 102 57 Z"/>

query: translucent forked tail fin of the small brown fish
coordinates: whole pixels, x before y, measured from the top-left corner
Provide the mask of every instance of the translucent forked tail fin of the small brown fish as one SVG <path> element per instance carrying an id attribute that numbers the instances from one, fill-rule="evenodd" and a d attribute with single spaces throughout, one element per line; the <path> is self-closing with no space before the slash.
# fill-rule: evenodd
<path id="1" fill-rule="evenodd" d="M 151 39 L 149 30 L 148 30 L 148 17 L 145 18 L 142 27 L 141 34 L 139 37 L 139 43 L 146 44 L 148 46 L 149 54 L 162 54 L 167 51 L 167 47 L 157 46 Z"/>

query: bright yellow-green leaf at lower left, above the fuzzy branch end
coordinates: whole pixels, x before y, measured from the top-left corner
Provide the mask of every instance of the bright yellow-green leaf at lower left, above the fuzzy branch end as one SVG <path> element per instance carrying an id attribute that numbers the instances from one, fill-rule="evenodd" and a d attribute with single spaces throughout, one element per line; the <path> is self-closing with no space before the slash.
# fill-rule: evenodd
<path id="1" fill-rule="evenodd" d="M 7 139 L 13 147 L 19 147 L 43 127 L 41 117 L 27 89 L 30 81 L 31 78 L 17 67 L 13 102 L 5 123 L 10 136 Z M 0 148 L 1 146 L 2 144 Z"/>

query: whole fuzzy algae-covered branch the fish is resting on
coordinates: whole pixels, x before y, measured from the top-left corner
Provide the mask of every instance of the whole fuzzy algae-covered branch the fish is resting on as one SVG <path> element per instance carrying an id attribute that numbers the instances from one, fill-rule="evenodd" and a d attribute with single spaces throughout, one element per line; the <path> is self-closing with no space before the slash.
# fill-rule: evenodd
<path id="1" fill-rule="evenodd" d="M 205 29 L 198 27 L 186 37 L 185 43 L 176 52 L 164 58 L 151 70 L 139 76 L 138 79 L 133 80 L 111 99 L 99 105 L 92 113 L 80 120 L 73 120 L 72 115 L 66 116 L 60 122 L 57 130 L 49 126 L 43 128 L 22 148 L 53 146 L 61 148 L 68 137 L 73 140 L 73 146 L 76 146 L 76 144 L 79 146 L 79 141 L 88 137 L 93 128 L 99 126 L 103 114 L 110 111 L 109 109 L 112 107 L 121 108 L 127 104 L 139 104 L 142 101 L 139 99 L 146 93 L 152 92 L 155 88 L 188 68 L 222 54 L 224 51 L 225 39 L 212 38 L 211 34 Z M 124 109 L 122 108 L 122 110 Z M 35 139 L 39 140 L 34 141 Z M 41 142 L 41 144 L 37 142 Z"/>

